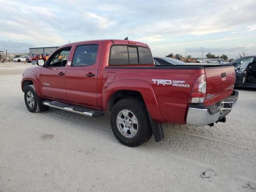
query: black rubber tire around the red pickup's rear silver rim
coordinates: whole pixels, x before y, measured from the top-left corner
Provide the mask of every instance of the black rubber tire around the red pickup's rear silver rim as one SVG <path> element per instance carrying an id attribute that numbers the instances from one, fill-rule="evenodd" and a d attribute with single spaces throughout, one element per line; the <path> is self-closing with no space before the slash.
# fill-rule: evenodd
<path id="1" fill-rule="evenodd" d="M 125 137 L 118 129 L 117 116 L 122 110 L 129 110 L 137 119 L 138 130 L 132 138 Z M 111 112 L 111 128 L 117 140 L 126 146 L 140 146 L 148 141 L 152 136 L 152 129 L 144 102 L 136 98 L 124 98 L 118 101 Z"/>

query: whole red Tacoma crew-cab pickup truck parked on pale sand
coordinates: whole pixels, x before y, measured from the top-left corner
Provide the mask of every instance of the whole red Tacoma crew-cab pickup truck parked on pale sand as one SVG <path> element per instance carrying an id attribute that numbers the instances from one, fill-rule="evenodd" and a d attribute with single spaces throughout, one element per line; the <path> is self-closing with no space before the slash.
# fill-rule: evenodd
<path id="1" fill-rule="evenodd" d="M 37 64 L 21 81 L 30 112 L 49 106 L 91 117 L 109 112 L 113 133 L 126 146 L 152 134 L 162 140 L 161 123 L 225 122 L 238 99 L 233 66 L 155 66 L 148 45 L 130 40 L 66 44 Z"/>

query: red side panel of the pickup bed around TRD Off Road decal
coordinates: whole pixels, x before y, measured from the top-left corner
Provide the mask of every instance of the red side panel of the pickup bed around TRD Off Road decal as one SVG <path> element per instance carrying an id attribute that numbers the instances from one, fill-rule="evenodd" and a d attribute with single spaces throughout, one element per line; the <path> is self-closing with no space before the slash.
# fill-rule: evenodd
<path id="1" fill-rule="evenodd" d="M 184 124 L 191 88 L 198 76 L 204 74 L 204 69 L 156 69 L 155 67 L 152 67 L 152 69 L 136 69 L 136 67 L 130 69 L 129 67 L 125 67 L 122 69 L 108 67 L 105 68 L 103 72 L 103 98 L 106 97 L 104 94 L 108 92 L 108 87 L 113 89 L 111 84 L 106 83 L 107 74 L 109 72 L 114 72 L 116 74 L 114 82 L 112 83 L 118 86 L 115 90 L 122 89 L 122 87 L 123 89 L 129 88 L 130 90 L 140 88 L 146 106 L 154 120 L 158 122 Z M 185 81 L 184 84 L 189 84 L 190 87 L 175 87 L 172 84 L 157 84 L 156 82 L 154 83 L 154 79 L 172 80 L 172 82 L 174 80 Z M 126 86 L 122 80 L 129 82 L 129 86 Z M 138 80 L 150 85 L 151 90 L 144 92 L 149 88 L 138 82 Z M 120 82 L 120 84 L 118 82 Z M 152 102 L 154 102 L 152 99 L 154 97 L 152 96 L 156 98 L 158 106 L 154 107 L 159 108 L 162 119 L 159 119 L 159 116 L 156 114 L 158 109 L 152 107 Z"/>

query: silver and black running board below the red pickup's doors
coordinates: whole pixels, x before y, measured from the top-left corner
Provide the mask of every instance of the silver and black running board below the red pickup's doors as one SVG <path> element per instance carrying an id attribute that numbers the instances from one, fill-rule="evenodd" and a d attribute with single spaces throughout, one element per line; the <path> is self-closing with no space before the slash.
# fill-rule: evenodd
<path id="1" fill-rule="evenodd" d="M 54 107 L 57 109 L 62 109 L 65 111 L 70 111 L 70 112 L 74 112 L 74 113 L 78 113 L 78 114 L 82 114 L 90 117 L 100 117 L 104 115 L 104 112 L 100 110 L 92 110 L 92 109 L 88 109 L 80 106 L 74 106 L 74 105 L 71 106 L 70 104 L 56 102 L 56 101 L 46 100 L 46 101 L 43 101 L 42 104 L 49 107 Z"/>

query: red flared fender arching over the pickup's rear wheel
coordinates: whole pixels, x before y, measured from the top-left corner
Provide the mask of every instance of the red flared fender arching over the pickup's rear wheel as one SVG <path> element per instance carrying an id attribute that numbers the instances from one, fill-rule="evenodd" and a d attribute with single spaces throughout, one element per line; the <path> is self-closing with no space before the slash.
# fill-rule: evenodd
<path id="1" fill-rule="evenodd" d="M 154 94 L 152 86 L 143 80 L 119 80 L 115 81 L 109 86 L 105 84 L 104 91 L 102 95 L 102 106 L 106 111 L 108 108 L 108 102 L 111 96 L 119 90 L 131 90 L 138 91 L 142 94 L 144 102 L 146 104 L 147 110 L 151 117 L 157 122 L 164 122 L 160 109 L 158 107 L 158 102 Z"/>

